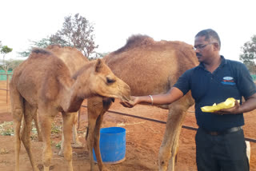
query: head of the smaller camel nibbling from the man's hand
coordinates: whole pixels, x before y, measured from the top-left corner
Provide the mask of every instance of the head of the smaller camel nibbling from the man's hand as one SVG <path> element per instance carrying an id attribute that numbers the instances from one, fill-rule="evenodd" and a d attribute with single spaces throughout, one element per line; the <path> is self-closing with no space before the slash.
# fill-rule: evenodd
<path id="1" fill-rule="evenodd" d="M 79 78 L 82 85 L 87 86 L 90 89 L 90 93 L 101 97 L 114 97 L 121 100 L 130 99 L 130 86 L 123 82 L 120 78 L 116 77 L 105 62 L 101 59 L 97 59 L 92 62 L 93 66 L 88 69 L 90 72 L 84 72 Z M 82 91 L 82 89 L 79 89 Z M 79 92 L 80 94 L 85 94 Z"/>

